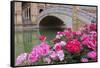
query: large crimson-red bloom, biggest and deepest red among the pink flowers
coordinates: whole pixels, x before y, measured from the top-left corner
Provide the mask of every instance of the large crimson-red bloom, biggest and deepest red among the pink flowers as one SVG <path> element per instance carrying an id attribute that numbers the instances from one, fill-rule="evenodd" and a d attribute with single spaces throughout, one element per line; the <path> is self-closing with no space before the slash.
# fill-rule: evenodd
<path id="1" fill-rule="evenodd" d="M 77 39 L 74 39 L 72 41 L 69 41 L 65 48 L 70 53 L 79 53 L 81 50 L 80 42 Z"/>

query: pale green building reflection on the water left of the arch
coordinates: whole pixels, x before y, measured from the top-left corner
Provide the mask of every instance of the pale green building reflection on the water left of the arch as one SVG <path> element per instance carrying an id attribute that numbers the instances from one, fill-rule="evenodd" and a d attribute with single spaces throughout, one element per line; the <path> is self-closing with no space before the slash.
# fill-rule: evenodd
<path id="1" fill-rule="evenodd" d="M 15 32 L 15 57 L 24 52 L 29 52 L 34 45 L 40 43 L 37 38 L 38 30 Z"/>

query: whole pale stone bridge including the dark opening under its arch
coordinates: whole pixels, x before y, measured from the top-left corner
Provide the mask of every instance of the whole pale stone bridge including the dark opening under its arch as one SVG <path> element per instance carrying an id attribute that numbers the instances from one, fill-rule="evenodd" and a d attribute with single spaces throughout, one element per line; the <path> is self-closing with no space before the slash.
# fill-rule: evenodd
<path id="1" fill-rule="evenodd" d="M 71 6 L 45 8 L 37 18 L 37 27 L 41 25 L 48 26 L 50 23 L 54 25 L 54 27 L 56 24 L 59 24 L 58 26 L 65 25 L 72 27 L 72 16 L 73 7 Z M 85 23 L 90 23 L 93 19 L 96 19 L 96 14 L 78 9 L 77 18 Z M 49 24 L 46 25 L 46 23 Z"/>

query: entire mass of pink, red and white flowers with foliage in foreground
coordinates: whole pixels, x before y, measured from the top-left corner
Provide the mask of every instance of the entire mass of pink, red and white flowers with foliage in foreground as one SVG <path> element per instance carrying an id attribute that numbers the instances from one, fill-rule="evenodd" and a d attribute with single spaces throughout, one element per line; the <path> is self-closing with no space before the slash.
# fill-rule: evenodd
<path id="1" fill-rule="evenodd" d="M 66 28 L 58 31 L 52 40 L 52 46 L 48 45 L 45 36 L 40 36 L 41 44 L 33 47 L 31 52 L 21 54 L 16 59 L 16 65 L 27 60 L 30 64 L 42 62 L 42 64 L 90 62 L 97 60 L 97 29 L 96 23 L 86 24 L 73 31 Z"/>

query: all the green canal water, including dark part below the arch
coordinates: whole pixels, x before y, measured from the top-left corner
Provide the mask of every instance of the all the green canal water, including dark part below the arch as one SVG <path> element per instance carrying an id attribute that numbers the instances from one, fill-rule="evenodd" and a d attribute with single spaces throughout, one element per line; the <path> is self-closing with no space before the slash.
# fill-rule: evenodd
<path id="1" fill-rule="evenodd" d="M 39 45 L 40 35 L 45 35 L 47 37 L 47 43 L 56 36 L 57 31 L 62 31 L 63 29 L 57 28 L 46 28 L 46 29 L 28 29 L 15 31 L 15 59 L 21 53 L 30 52 L 33 46 Z"/>

